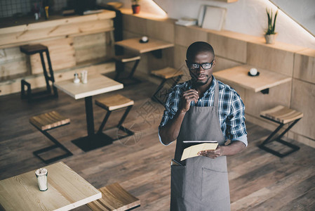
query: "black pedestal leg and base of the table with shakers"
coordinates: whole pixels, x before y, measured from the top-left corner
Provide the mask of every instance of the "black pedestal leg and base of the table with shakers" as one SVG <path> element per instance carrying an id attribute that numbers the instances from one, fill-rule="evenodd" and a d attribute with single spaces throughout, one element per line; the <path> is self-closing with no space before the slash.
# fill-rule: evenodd
<path id="1" fill-rule="evenodd" d="M 95 134 L 94 132 L 94 117 L 93 117 L 93 101 L 92 96 L 85 98 L 86 101 L 86 128 L 88 136 L 84 136 L 72 141 L 81 150 L 87 152 L 96 148 L 101 148 L 112 143 L 112 139 L 109 136 L 102 133 Z"/>

